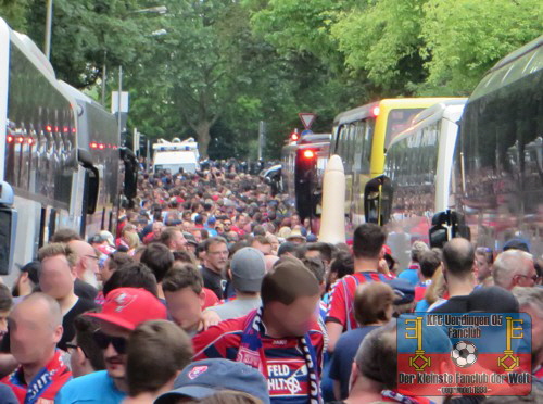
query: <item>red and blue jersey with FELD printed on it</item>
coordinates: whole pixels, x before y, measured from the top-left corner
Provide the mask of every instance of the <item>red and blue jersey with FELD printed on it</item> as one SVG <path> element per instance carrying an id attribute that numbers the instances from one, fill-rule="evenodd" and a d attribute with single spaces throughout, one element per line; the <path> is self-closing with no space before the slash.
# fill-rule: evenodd
<path id="1" fill-rule="evenodd" d="M 222 321 L 195 336 L 192 339 L 197 352 L 193 359 L 218 357 L 236 361 L 241 336 L 252 314 Z M 316 321 L 312 325 L 308 336 L 317 356 L 316 371 L 320 376 L 325 337 Z M 310 380 L 300 338 L 275 339 L 262 333 L 261 338 L 272 403 L 306 404 L 310 396 Z"/>

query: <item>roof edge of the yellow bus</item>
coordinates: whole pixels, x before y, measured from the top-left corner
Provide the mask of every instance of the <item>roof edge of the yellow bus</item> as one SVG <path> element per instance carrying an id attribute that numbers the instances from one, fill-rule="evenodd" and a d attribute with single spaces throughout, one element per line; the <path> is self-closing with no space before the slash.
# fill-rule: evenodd
<path id="1" fill-rule="evenodd" d="M 368 116 L 377 116 L 379 111 L 375 111 L 378 106 L 380 110 L 394 110 L 394 109 L 416 109 L 428 108 L 437 102 L 451 100 L 450 97 L 443 98 L 388 98 L 377 102 L 371 102 L 353 110 L 342 112 L 333 119 L 333 125 L 339 126 L 349 124 L 356 121 L 362 121 Z M 377 114 L 376 114 L 377 113 Z"/>

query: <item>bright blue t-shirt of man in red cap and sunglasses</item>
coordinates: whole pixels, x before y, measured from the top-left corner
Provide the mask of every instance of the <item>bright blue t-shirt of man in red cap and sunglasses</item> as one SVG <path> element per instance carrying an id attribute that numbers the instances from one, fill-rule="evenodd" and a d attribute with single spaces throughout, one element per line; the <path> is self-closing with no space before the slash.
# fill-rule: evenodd
<path id="1" fill-rule="evenodd" d="M 126 393 L 117 390 L 106 370 L 96 371 L 68 381 L 54 404 L 119 404 Z"/>

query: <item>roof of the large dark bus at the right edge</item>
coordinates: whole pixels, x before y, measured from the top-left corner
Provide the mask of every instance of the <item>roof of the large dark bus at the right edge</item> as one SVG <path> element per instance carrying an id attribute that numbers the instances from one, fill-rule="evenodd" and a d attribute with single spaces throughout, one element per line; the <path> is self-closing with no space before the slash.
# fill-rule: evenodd
<path id="1" fill-rule="evenodd" d="M 543 68 L 543 35 L 509 53 L 484 75 L 468 102 Z"/>

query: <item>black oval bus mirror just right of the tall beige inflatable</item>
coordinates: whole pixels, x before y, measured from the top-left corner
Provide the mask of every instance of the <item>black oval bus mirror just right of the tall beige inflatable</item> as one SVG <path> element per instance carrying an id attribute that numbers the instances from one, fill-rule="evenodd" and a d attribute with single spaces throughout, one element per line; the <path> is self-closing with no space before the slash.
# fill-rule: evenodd
<path id="1" fill-rule="evenodd" d="M 389 223 L 392 212 L 393 189 L 390 178 L 380 175 L 364 188 L 364 215 L 366 223 L 383 226 Z"/>

